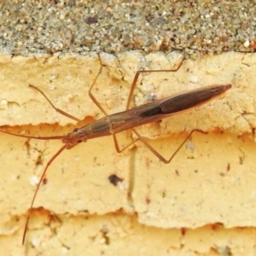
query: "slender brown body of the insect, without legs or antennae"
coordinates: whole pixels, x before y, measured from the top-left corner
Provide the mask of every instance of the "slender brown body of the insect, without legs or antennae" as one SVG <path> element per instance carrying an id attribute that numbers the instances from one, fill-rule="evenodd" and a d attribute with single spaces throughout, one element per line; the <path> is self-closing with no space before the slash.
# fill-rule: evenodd
<path id="1" fill-rule="evenodd" d="M 165 119 L 175 113 L 180 113 L 189 108 L 195 108 L 212 100 L 230 89 L 231 85 L 212 85 L 196 90 L 190 90 L 169 96 L 142 106 L 131 108 L 119 113 L 113 113 L 85 125 L 62 138 L 63 143 L 81 143 L 87 139 L 104 137 L 125 131 L 139 125 L 146 125 Z"/>

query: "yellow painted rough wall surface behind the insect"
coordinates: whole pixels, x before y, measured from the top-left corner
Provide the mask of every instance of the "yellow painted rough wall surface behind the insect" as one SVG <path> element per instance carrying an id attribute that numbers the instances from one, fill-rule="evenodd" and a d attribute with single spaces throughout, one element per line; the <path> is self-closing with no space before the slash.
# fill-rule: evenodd
<path id="1" fill-rule="evenodd" d="M 125 110 L 139 69 L 177 67 L 183 55 L 101 54 L 93 95 L 107 113 Z M 61 153 L 39 188 L 38 180 L 60 141 L 0 133 L 0 244 L 4 255 L 255 255 L 255 62 L 253 54 L 203 55 L 175 73 L 146 73 L 134 102 L 172 96 L 211 84 L 232 84 L 200 108 L 138 128 L 166 158 L 195 132 L 168 165 L 137 143 L 121 154 L 112 137 Z M 96 54 L 0 56 L 1 130 L 54 136 L 103 116 L 88 96 L 100 69 Z M 76 124 L 57 108 L 83 121 Z M 121 134 L 126 145 L 130 133 Z M 117 177 L 116 186 L 109 177 Z"/>

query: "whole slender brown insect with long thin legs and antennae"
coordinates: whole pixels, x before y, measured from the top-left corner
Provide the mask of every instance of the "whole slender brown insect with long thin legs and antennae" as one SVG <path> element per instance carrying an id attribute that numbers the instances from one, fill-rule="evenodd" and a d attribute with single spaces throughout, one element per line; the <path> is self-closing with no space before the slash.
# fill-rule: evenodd
<path id="1" fill-rule="evenodd" d="M 96 75 L 96 79 L 99 77 L 100 73 L 102 73 L 102 60 L 99 56 L 99 60 L 101 63 L 101 67 L 99 72 Z M 131 99 L 133 96 L 133 92 L 136 88 L 137 79 L 141 73 L 153 73 L 153 72 L 176 72 L 179 67 L 181 67 L 183 61 L 180 63 L 180 65 L 173 70 L 141 70 L 137 71 L 133 82 L 131 84 L 131 90 L 130 95 L 128 97 L 126 110 L 120 113 L 113 113 L 111 115 L 108 115 L 107 112 L 102 108 L 101 104 L 97 102 L 96 97 L 93 96 L 91 93 L 91 90 L 93 89 L 94 85 L 96 84 L 96 79 L 94 79 L 93 83 L 90 86 L 89 90 L 89 96 L 90 99 L 95 102 L 96 106 L 102 110 L 102 113 L 105 114 L 105 117 L 102 119 L 97 119 L 96 121 L 90 123 L 89 125 L 85 125 L 81 128 L 75 128 L 71 133 L 68 133 L 67 135 L 63 136 L 54 136 L 54 137 L 35 137 L 35 136 L 26 136 L 26 135 L 20 135 L 20 134 L 14 134 L 9 131 L 1 131 L 3 133 L 7 133 L 9 135 L 14 135 L 17 137 L 26 137 L 26 138 L 34 138 L 34 139 L 40 139 L 40 140 L 55 140 L 55 139 L 61 139 L 62 143 L 64 145 L 50 158 L 47 165 L 44 167 L 44 172 L 42 176 L 40 177 L 40 180 L 38 182 L 38 186 L 35 190 L 35 193 L 32 197 L 32 203 L 28 211 L 28 217 L 26 218 L 26 225 L 24 229 L 23 239 L 22 243 L 24 244 L 25 237 L 26 237 L 26 230 L 29 223 L 29 219 L 32 214 L 32 207 L 33 203 L 36 199 L 36 196 L 38 194 L 38 189 L 40 187 L 41 183 L 44 183 L 44 175 L 45 172 L 48 170 L 49 165 L 55 160 L 55 158 L 61 154 L 61 152 L 64 149 L 70 149 L 74 146 L 78 145 L 79 143 L 86 142 L 88 139 L 96 138 L 96 137 L 104 137 L 113 135 L 113 142 L 115 145 L 115 148 L 117 152 L 123 151 L 125 148 L 128 148 L 131 144 L 136 143 L 138 140 L 142 141 L 145 146 L 152 151 L 161 161 L 164 163 L 169 163 L 173 157 L 177 154 L 178 150 L 183 146 L 183 144 L 188 140 L 188 138 L 191 136 L 191 134 L 194 131 L 200 131 L 200 130 L 193 130 L 189 132 L 189 135 L 185 138 L 183 143 L 177 148 L 177 150 L 172 154 L 170 159 L 166 160 L 160 153 L 158 153 L 153 147 L 149 145 L 149 143 L 134 129 L 135 127 L 139 125 L 146 125 L 151 122 L 158 121 L 160 119 L 165 119 L 166 117 L 172 116 L 173 114 L 181 113 L 185 110 L 188 110 L 190 108 L 198 107 L 202 104 L 205 104 L 206 102 L 211 101 L 212 99 L 220 96 L 224 93 L 224 91 L 231 88 L 231 84 L 222 84 L 222 85 L 212 85 L 203 87 L 196 90 L 190 90 L 186 91 L 180 94 L 177 94 L 175 96 L 168 96 L 166 98 L 155 100 L 154 102 L 149 102 L 147 104 L 144 104 L 139 107 L 130 108 Z M 66 113 L 62 111 L 59 108 L 55 108 L 54 104 L 50 102 L 48 96 L 44 94 L 42 90 L 39 90 L 36 86 L 30 84 L 29 85 L 32 89 L 38 90 L 39 93 L 41 93 L 47 102 L 52 106 L 52 108 L 55 109 L 58 113 L 61 113 L 65 116 L 67 116 L 70 119 L 74 119 L 76 121 L 80 121 L 80 119 L 74 117 L 73 115 Z M 125 148 L 119 148 L 119 143 L 116 137 L 116 134 L 120 131 L 125 131 L 127 129 L 131 129 L 131 131 L 136 134 L 137 139 L 135 139 L 132 143 L 130 143 Z M 202 131 L 201 131 L 202 132 Z"/>

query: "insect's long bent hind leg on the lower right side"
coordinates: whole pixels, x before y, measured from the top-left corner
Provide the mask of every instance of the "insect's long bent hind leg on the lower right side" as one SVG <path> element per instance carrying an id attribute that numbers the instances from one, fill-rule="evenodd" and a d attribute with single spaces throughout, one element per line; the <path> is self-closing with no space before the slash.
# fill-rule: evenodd
<path id="1" fill-rule="evenodd" d="M 141 142 L 143 142 L 143 144 L 155 155 L 159 158 L 159 160 L 161 160 L 162 162 L 164 162 L 165 164 L 168 164 L 172 161 L 172 159 L 174 158 L 174 156 L 177 154 L 177 152 L 180 150 L 180 148 L 183 147 L 184 143 L 186 143 L 189 139 L 189 137 L 192 136 L 192 134 L 195 131 L 201 132 L 203 134 L 207 134 L 206 131 L 201 131 L 198 129 L 194 129 L 192 131 L 189 132 L 189 135 L 183 140 L 183 143 L 181 143 L 179 145 L 179 147 L 174 151 L 174 153 L 171 155 L 169 160 L 166 160 L 159 152 L 157 152 L 135 129 L 131 129 L 136 135 L 137 135 L 137 139 L 139 139 Z"/>

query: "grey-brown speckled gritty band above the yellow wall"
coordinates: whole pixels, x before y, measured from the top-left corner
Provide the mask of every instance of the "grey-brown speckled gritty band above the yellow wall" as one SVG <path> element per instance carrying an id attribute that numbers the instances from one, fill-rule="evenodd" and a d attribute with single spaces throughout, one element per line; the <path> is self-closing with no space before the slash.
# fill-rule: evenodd
<path id="1" fill-rule="evenodd" d="M 13 1 L 0 3 L 0 52 L 118 53 L 256 49 L 254 1 Z"/>

